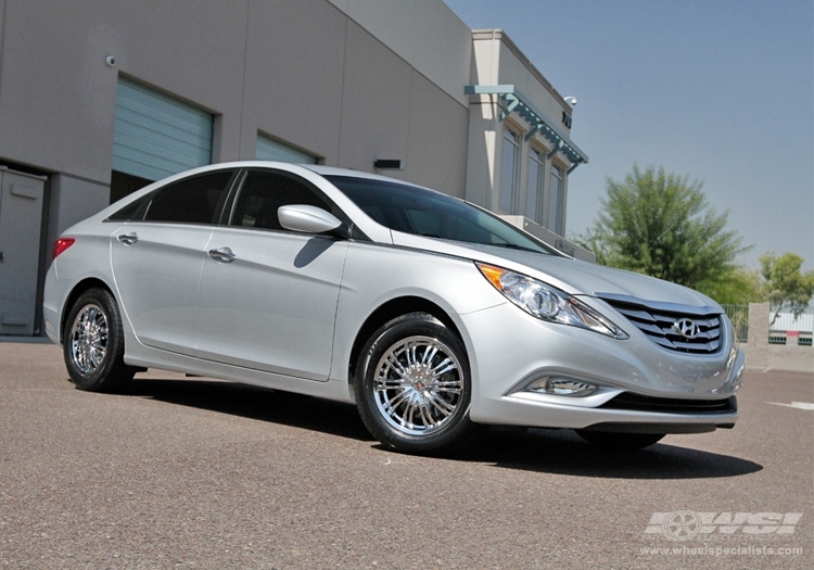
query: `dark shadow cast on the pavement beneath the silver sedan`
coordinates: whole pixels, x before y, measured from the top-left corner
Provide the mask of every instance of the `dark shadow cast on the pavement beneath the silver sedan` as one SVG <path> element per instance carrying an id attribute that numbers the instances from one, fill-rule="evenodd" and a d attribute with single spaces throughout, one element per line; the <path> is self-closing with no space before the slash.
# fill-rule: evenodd
<path id="1" fill-rule="evenodd" d="M 211 379 L 137 379 L 126 395 L 207 409 L 370 442 L 349 404 Z M 606 449 L 571 430 L 486 429 L 451 458 L 498 468 L 611 479 L 705 479 L 753 473 L 763 466 L 728 455 L 657 443 L 638 451 Z"/>

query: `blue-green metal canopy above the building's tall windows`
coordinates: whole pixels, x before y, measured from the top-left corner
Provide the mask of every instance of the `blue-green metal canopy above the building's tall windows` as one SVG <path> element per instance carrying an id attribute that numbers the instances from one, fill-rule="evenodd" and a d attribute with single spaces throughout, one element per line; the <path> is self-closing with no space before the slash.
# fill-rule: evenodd
<path id="1" fill-rule="evenodd" d="M 500 121 L 505 119 L 512 112 L 517 113 L 532 126 L 525 140 L 529 140 L 535 132 L 539 131 L 548 139 L 554 148 L 548 154 L 550 159 L 555 152 L 561 151 L 571 161 L 571 173 L 580 164 L 588 162 L 588 156 L 574 144 L 563 132 L 551 125 L 546 116 L 529 102 L 513 85 L 468 85 L 463 88 L 467 94 L 496 94 L 506 102 L 506 107 L 500 113 Z"/>

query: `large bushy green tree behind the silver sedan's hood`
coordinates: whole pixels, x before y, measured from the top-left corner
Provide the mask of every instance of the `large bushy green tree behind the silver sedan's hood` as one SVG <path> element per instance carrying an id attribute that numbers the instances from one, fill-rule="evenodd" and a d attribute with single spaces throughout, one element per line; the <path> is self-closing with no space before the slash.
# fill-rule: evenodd
<path id="1" fill-rule="evenodd" d="M 741 296 L 752 278 L 735 259 L 748 251 L 736 231 L 726 229 L 728 214 L 717 214 L 702 192 L 703 183 L 687 176 L 634 165 L 624 181 L 607 179 L 602 210 L 585 236 L 576 239 L 594 251 L 597 262 L 698 289 L 721 299 Z M 750 293 L 746 293 L 750 294 Z M 723 302 L 723 300 L 722 300 Z"/>

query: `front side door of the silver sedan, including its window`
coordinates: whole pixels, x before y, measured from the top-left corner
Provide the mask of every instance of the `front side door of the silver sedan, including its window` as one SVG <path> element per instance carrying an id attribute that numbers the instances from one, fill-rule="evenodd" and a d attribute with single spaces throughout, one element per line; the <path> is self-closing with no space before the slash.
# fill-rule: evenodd
<path id="1" fill-rule="evenodd" d="M 277 210 L 335 206 L 284 172 L 250 170 L 201 276 L 200 356 L 325 381 L 346 241 L 284 230 Z"/>

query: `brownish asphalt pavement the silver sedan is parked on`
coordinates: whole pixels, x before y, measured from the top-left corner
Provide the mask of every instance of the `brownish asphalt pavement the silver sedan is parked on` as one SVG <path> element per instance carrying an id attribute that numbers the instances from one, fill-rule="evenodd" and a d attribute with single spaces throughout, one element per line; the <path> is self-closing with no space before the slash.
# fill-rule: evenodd
<path id="1" fill-rule="evenodd" d="M 382 449 L 353 406 L 150 370 L 81 392 L 0 342 L 0 567 L 812 568 L 814 372 L 748 370 L 734 430 L 608 452 L 493 429 Z"/>

